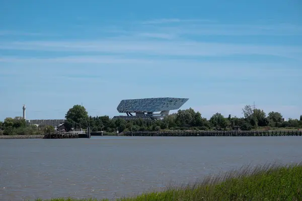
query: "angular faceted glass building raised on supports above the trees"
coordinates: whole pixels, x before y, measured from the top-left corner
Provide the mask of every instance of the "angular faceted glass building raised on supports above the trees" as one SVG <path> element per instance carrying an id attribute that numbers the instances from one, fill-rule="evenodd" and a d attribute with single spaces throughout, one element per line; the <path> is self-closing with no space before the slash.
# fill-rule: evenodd
<path id="1" fill-rule="evenodd" d="M 121 100 L 117 107 L 119 113 L 126 113 L 127 116 L 115 116 L 113 119 L 155 120 L 169 115 L 171 110 L 178 110 L 189 98 L 158 97 Z M 157 113 L 159 112 L 159 113 Z M 133 115 L 132 113 L 135 113 Z"/>

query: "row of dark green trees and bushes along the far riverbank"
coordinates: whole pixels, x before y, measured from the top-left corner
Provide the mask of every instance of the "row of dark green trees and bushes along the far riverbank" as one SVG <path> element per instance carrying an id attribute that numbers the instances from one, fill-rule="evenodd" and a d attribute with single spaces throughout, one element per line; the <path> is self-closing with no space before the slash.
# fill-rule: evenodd
<path id="1" fill-rule="evenodd" d="M 224 117 L 220 113 L 214 114 L 209 120 L 202 117 L 193 109 L 179 110 L 177 113 L 166 116 L 161 120 L 144 121 L 142 119 L 126 121 L 113 120 L 109 116 L 91 117 L 85 107 L 75 105 L 65 115 L 65 128 L 79 130 L 91 128 L 91 131 L 119 132 L 123 131 L 160 131 L 160 130 L 230 130 L 240 127 L 241 130 L 270 128 L 301 128 L 302 115 L 299 119 L 284 121 L 281 113 L 253 109 L 247 105 L 242 109 L 243 117 Z M 0 135 L 36 135 L 54 132 L 52 126 L 27 125 L 21 117 L 6 118 L 0 122 Z"/>

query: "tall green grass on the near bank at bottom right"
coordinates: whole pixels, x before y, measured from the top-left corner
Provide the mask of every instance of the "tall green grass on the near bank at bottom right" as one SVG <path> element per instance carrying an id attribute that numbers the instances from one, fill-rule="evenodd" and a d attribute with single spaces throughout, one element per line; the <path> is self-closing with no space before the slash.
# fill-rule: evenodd
<path id="1" fill-rule="evenodd" d="M 143 200 L 302 200 L 302 163 L 243 167 L 239 171 L 210 176 L 182 187 L 125 197 L 120 201 Z M 42 199 L 37 199 L 42 200 Z M 51 201 L 97 200 L 53 198 Z M 102 199 L 109 200 L 109 199 Z"/>

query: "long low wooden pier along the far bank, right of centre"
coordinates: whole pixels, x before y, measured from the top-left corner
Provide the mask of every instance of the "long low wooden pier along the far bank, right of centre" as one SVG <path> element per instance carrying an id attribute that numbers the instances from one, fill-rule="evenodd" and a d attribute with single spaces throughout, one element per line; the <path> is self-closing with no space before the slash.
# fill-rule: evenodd
<path id="1" fill-rule="evenodd" d="M 136 131 L 123 132 L 124 136 L 302 136 L 302 131 Z"/>

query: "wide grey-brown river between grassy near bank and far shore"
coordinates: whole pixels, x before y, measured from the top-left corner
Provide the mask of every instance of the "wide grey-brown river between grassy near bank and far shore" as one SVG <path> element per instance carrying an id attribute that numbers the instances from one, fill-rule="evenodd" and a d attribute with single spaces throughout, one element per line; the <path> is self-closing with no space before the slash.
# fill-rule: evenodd
<path id="1" fill-rule="evenodd" d="M 132 196 L 244 164 L 302 161 L 302 137 L 0 140 L 0 200 Z"/>

